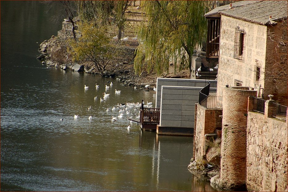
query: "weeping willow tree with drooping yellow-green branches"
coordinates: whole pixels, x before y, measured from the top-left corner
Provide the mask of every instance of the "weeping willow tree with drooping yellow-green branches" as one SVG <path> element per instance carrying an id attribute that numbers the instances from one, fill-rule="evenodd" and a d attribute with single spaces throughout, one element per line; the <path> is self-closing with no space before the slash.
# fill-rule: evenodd
<path id="1" fill-rule="evenodd" d="M 158 74 L 189 68 L 193 50 L 205 39 L 207 24 L 204 1 L 144 1 L 144 21 L 138 29 L 141 40 L 134 60 L 134 70 L 143 68 Z"/>

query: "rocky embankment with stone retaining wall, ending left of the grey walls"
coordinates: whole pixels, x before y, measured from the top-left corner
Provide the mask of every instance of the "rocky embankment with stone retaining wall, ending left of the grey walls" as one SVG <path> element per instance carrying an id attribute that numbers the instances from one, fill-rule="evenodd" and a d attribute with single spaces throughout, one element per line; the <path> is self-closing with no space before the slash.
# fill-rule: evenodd
<path id="1" fill-rule="evenodd" d="M 47 68 L 59 67 L 63 70 L 103 75 L 97 71 L 91 61 L 72 61 L 72 56 L 67 52 L 65 39 L 54 35 L 52 35 L 51 39 L 45 40 L 40 44 L 39 52 L 41 55 L 37 59 L 41 60 L 43 65 L 46 64 Z M 140 76 L 134 73 L 134 52 L 135 48 L 121 47 L 118 56 L 114 59 L 114 62 L 117 64 L 106 67 L 103 76 L 117 77 L 117 81 L 130 86 L 152 85 L 156 83 L 156 76 L 152 78 L 148 77 L 149 75 L 145 71 Z M 153 89 L 153 86 L 150 89 Z"/>

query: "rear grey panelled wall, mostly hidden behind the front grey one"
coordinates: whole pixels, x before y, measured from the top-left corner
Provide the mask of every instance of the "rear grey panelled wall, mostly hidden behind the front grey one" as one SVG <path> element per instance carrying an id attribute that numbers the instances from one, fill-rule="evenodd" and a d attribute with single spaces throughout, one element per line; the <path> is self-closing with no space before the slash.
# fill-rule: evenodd
<path id="1" fill-rule="evenodd" d="M 202 89 L 207 84 L 208 81 L 205 81 L 203 79 L 157 78 L 156 108 L 160 108 L 162 86 L 201 87 Z M 198 100 L 199 100 L 199 91 L 198 91 Z"/>

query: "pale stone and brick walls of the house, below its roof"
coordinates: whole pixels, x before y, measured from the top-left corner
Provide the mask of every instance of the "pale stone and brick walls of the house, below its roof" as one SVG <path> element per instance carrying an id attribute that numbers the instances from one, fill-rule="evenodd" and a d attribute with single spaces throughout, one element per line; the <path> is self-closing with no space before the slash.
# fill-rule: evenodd
<path id="1" fill-rule="evenodd" d="M 243 58 L 241 60 L 233 58 L 235 29 L 238 26 L 245 32 Z M 280 25 L 267 27 L 221 15 L 217 95 L 223 94 L 226 84 L 236 86 L 235 80 L 242 81 L 242 86 L 254 87 L 254 71 L 255 65 L 257 65 L 261 71 L 259 84 L 261 84 L 261 88 L 264 88 L 263 98 L 268 99 L 269 94 L 276 95 L 277 93 L 278 101 L 287 106 L 287 78 L 273 83 L 273 78 L 268 80 L 269 75 L 265 73 L 266 71 L 273 73 L 273 71 L 278 70 L 275 66 L 273 68 L 274 63 L 268 60 L 277 47 L 275 42 L 269 40 L 268 31 L 275 35 L 282 35 L 282 33 L 285 34 L 285 30 L 287 34 L 287 29 L 281 28 Z M 287 71 L 287 66 L 282 66 L 286 67 L 283 70 Z M 277 98 L 275 97 L 275 99 Z"/>

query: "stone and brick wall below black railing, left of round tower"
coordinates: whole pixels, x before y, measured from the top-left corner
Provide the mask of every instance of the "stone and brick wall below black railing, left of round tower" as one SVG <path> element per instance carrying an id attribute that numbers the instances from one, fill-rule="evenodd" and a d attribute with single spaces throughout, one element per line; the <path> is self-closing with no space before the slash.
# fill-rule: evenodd
<path id="1" fill-rule="evenodd" d="M 215 133 L 216 128 L 222 127 L 222 109 L 206 109 L 196 104 L 196 126 L 194 128 L 193 158 L 201 161 L 204 155 L 205 134 Z"/>

